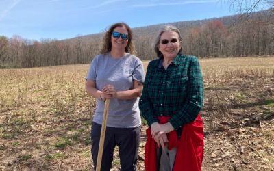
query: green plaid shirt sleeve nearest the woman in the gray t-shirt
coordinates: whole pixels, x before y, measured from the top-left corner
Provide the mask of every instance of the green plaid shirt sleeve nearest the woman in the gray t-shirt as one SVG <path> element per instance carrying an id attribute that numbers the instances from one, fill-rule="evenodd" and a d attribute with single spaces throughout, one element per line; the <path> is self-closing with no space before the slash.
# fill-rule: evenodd
<path id="1" fill-rule="evenodd" d="M 149 62 L 149 65 L 147 66 L 147 74 L 145 77 L 144 88 L 142 89 L 142 96 L 140 97 L 140 101 L 139 101 L 139 108 L 140 108 L 142 117 L 145 118 L 145 120 L 147 120 L 147 124 L 149 124 L 149 127 L 154 122 L 158 122 L 157 116 L 153 114 L 153 105 L 148 94 L 148 84 L 149 84 L 149 79 L 151 79 L 152 67 L 153 66 L 151 66 L 151 62 Z"/>

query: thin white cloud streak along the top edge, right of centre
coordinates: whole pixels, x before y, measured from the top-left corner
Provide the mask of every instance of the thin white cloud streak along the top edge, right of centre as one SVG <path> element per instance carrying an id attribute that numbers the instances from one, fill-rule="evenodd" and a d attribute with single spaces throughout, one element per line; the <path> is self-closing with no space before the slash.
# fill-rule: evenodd
<path id="1" fill-rule="evenodd" d="M 193 4 L 193 3 L 216 3 L 219 0 L 205 0 L 205 1 L 177 1 L 177 2 L 170 2 L 170 3 L 147 3 L 147 4 L 138 4 L 132 5 L 132 7 L 157 7 L 157 6 L 168 6 L 168 5 L 186 5 L 186 4 Z"/>

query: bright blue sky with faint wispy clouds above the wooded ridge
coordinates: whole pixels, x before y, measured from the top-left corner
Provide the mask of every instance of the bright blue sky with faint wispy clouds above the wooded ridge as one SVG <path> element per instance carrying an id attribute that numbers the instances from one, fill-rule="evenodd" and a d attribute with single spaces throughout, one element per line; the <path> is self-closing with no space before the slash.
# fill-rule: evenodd
<path id="1" fill-rule="evenodd" d="M 0 35 L 62 40 L 104 31 L 236 14 L 224 0 L 0 0 Z"/>

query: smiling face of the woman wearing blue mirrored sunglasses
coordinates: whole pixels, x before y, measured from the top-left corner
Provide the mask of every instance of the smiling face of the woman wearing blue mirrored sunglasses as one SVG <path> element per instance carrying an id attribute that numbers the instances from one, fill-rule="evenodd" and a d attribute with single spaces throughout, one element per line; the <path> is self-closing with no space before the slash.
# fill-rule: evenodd
<path id="1" fill-rule="evenodd" d="M 116 27 L 113 32 L 119 32 L 120 34 L 128 34 L 127 28 L 125 27 Z M 125 51 L 125 47 L 127 47 L 128 40 L 123 40 L 121 36 L 119 38 L 114 38 L 111 36 L 112 49 Z"/>

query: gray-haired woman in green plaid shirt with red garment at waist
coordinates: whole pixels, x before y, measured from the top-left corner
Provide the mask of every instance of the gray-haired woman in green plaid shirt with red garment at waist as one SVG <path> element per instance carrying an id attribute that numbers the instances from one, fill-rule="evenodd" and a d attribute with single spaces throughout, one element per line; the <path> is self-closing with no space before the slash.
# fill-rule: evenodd
<path id="1" fill-rule="evenodd" d="M 182 55 L 179 29 L 166 25 L 153 44 L 139 101 L 147 120 L 145 170 L 201 170 L 203 78 L 197 57 Z"/>

